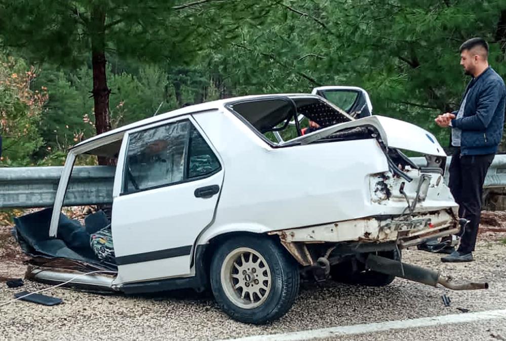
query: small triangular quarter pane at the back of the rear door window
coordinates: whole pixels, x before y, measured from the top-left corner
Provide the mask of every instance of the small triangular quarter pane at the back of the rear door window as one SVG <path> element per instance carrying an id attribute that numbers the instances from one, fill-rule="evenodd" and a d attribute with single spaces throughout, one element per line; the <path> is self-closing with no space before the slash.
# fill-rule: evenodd
<path id="1" fill-rule="evenodd" d="M 188 178 L 206 176 L 221 169 L 216 155 L 197 128 L 191 127 Z"/>

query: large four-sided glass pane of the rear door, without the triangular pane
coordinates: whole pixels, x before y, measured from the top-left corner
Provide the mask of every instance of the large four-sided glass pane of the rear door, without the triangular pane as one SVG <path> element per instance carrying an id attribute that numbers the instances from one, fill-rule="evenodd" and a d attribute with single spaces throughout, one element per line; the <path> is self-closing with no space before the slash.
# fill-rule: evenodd
<path id="1" fill-rule="evenodd" d="M 189 121 L 181 121 L 132 133 L 125 160 L 123 193 L 182 181 L 189 130 Z"/>

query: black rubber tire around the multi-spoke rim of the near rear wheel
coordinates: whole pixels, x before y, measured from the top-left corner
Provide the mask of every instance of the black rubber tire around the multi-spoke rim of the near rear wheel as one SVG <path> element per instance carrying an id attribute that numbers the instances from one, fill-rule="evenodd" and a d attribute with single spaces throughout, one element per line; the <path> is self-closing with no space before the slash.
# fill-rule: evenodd
<path id="1" fill-rule="evenodd" d="M 240 252 L 238 251 L 239 248 L 249 248 L 260 254 L 270 269 L 270 289 L 268 293 L 267 291 L 264 292 L 265 298 L 261 305 L 251 309 L 236 305 L 225 293 L 227 289 L 224 286 L 229 285 L 229 283 L 223 284 L 221 280 L 222 267 L 227 269 L 226 264 L 230 261 L 229 259 L 235 257 L 234 255 L 237 252 Z M 259 261 L 259 264 L 261 263 Z M 267 274 L 267 271 L 264 270 L 264 273 Z M 224 274 L 227 274 L 225 270 Z M 232 275 L 229 279 L 232 286 L 233 281 L 237 281 L 237 279 L 232 279 Z M 300 275 L 295 260 L 275 240 L 266 237 L 242 235 L 231 237 L 218 247 L 211 260 L 210 280 L 216 302 L 228 316 L 244 323 L 264 324 L 279 319 L 292 307 L 299 291 Z M 228 290 L 230 295 L 230 289 Z M 235 292 L 240 294 L 242 291 L 237 289 Z M 255 294 L 254 297 L 259 298 Z"/>

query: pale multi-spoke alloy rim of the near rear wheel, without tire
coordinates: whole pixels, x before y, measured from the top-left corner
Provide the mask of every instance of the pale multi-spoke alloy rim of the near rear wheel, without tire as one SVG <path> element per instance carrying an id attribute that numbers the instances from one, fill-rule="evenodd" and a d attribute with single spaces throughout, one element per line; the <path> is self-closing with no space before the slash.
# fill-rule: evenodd
<path id="1" fill-rule="evenodd" d="M 243 309 L 254 309 L 267 299 L 272 276 L 265 258 L 249 247 L 230 251 L 221 265 L 221 283 L 227 298 Z"/>

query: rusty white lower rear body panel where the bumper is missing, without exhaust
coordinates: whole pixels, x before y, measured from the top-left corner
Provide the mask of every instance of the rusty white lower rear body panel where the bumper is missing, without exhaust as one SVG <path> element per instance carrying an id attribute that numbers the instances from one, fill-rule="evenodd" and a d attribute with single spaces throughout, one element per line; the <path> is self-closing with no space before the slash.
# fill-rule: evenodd
<path id="1" fill-rule="evenodd" d="M 405 220 L 367 217 L 270 234 L 278 235 L 302 266 L 312 266 L 321 257 L 333 264 L 339 261 L 339 255 L 404 249 L 458 231 L 452 211 L 441 210 L 415 214 Z"/>

